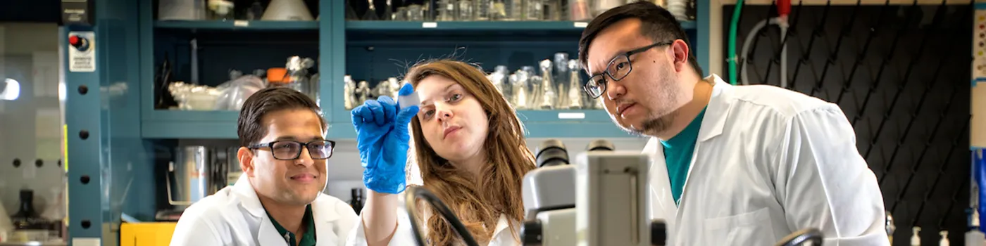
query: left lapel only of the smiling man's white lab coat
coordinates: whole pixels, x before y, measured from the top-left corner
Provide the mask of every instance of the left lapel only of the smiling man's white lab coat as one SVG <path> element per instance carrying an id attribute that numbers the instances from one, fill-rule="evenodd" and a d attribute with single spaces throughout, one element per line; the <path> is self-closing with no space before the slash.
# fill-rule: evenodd
<path id="1" fill-rule="evenodd" d="M 260 245 L 287 246 L 288 243 L 284 240 L 284 236 L 277 232 L 274 223 L 270 221 L 267 212 L 263 210 L 263 205 L 260 205 L 260 199 L 256 196 L 256 191 L 253 190 L 253 186 L 250 185 L 246 175 L 240 176 L 237 183 L 233 185 L 233 190 L 237 196 L 240 196 L 241 205 L 246 213 L 253 216 L 254 221 L 260 221 L 256 241 Z"/>

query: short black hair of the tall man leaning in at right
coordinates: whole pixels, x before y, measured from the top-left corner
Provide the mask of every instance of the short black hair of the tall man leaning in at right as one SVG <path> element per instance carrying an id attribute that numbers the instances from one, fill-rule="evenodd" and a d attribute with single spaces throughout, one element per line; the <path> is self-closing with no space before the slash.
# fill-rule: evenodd
<path id="1" fill-rule="evenodd" d="M 656 42 L 674 39 L 684 40 L 688 44 L 688 63 L 695 69 L 699 77 L 704 75 L 702 67 L 698 65 L 698 60 L 695 59 L 695 49 L 691 47 L 688 35 L 681 29 L 681 24 L 674 19 L 668 10 L 651 1 L 638 1 L 612 8 L 593 19 L 586 30 L 582 31 L 582 38 L 579 39 L 579 62 L 582 63 L 583 68 L 589 70 L 589 45 L 599 35 L 599 31 L 626 19 L 640 20 L 640 34 Z"/>

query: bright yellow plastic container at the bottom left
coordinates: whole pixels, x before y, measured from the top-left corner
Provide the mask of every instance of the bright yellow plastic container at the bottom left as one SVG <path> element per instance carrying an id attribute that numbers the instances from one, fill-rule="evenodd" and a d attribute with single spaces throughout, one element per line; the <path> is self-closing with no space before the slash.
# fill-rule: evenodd
<path id="1" fill-rule="evenodd" d="M 120 224 L 120 246 L 168 246 L 176 222 L 140 222 Z"/>

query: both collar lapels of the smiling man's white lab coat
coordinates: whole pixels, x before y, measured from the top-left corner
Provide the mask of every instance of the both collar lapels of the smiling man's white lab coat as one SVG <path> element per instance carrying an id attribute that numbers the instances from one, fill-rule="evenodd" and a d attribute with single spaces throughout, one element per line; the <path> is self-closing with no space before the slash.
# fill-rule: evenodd
<path id="1" fill-rule="evenodd" d="M 244 210 L 249 215 L 252 215 L 260 220 L 260 228 L 257 233 L 257 240 L 260 245 L 284 245 L 284 238 L 281 236 L 270 236 L 270 235 L 280 235 L 277 228 L 274 227 L 274 223 L 270 221 L 267 216 L 267 212 L 263 210 L 263 205 L 260 204 L 260 199 L 256 195 L 256 191 L 253 190 L 253 185 L 249 183 L 246 178 L 246 174 L 241 175 L 237 183 L 233 185 L 233 191 L 238 194 L 241 198 L 241 203 Z M 323 194 L 319 194 L 322 196 Z M 330 209 L 322 208 L 335 208 L 332 205 L 321 205 L 321 203 L 328 203 L 331 200 L 321 200 L 316 199 L 312 203 L 312 216 L 315 219 L 316 228 L 316 241 L 317 245 L 323 245 L 324 243 L 334 242 L 334 237 L 337 235 L 331 234 L 333 230 L 333 223 L 339 218 L 339 215 Z M 321 206 L 319 206 L 321 205 Z M 328 245 L 328 244 L 325 244 Z"/>

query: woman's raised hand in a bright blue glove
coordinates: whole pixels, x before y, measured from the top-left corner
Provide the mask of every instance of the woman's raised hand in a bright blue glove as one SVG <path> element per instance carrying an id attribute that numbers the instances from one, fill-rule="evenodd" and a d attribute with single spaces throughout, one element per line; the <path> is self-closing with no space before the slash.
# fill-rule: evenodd
<path id="1" fill-rule="evenodd" d="M 398 95 L 414 92 L 411 84 L 404 85 Z M 360 151 L 363 183 L 380 193 L 397 194 L 407 186 L 404 166 L 407 162 L 408 123 L 418 113 L 418 106 L 400 108 L 387 95 L 367 100 L 353 109 L 356 126 L 356 148 Z"/>

